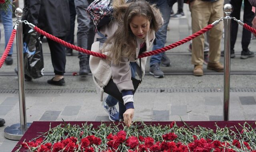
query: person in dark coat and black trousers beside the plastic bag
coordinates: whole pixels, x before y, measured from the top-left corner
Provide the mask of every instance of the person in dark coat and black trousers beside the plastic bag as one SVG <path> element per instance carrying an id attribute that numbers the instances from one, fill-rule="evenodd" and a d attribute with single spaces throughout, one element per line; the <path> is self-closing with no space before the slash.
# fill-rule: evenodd
<path id="1" fill-rule="evenodd" d="M 66 36 L 70 31 L 68 0 L 25 0 L 24 4 L 24 10 L 28 10 L 28 12 L 26 12 L 27 17 L 25 18 L 28 22 L 62 40 L 66 39 Z M 66 64 L 65 48 L 57 42 L 53 42 L 49 39 L 47 40 L 55 73 L 55 76 L 48 80 L 47 83 L 64 86 Z"/>

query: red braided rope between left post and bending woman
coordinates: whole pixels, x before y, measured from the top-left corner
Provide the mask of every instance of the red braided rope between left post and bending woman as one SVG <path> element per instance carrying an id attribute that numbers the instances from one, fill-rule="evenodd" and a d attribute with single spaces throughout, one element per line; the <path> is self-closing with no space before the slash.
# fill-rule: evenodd
<path id="1" fill-rule="evenodd" d="M 89 54 L 89 55 L 92 55 L 92 56 L 96 56 L 96 57 L 100 57 L 100 58 L 107 58 L 107 56 L 105 54 L 100 54 L 98 52 L 93 52 L 93 51 L 90 51 L 90 50 L 86 50 L 84 48 L 80 48 L 79 46 L 75 46 L 73 44 L 65 42 L 64 40 L 61 40 L 60 38 L 57 38 L 56 36 L 53 36 L 53 35 L 51 35 L 47 32 L 44 32 L 43 30 L 41 30 L 37 26 L 34 27 L 34 30 L 36 30 L 36 32 L 46 36 L 47 38 L 50 38 L 51 40 L 54 40 L 55 42 L 58 42 L 58 43 L 66 46 L 68 48 L 71 48 L 71 49 L 74 49 L 74 50 L 77 50 L 79 52 L 83 52 L 83 53 L 86 53 L 86 54 Z"/>

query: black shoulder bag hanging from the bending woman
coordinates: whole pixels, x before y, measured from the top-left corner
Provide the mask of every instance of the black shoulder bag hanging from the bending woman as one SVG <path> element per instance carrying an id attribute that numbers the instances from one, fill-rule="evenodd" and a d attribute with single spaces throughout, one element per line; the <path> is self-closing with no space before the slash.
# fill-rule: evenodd
<path id="1" fill-rule="evenodd" d="M 141 74 L 141 59 L 140 59 L 140 80 L 136 78 L 131 78 L 132 84 L 134 87 L 134 91 L 132 91 L 132 94 L 134 94 L 138 88 L 138 86 L 142 82 L 142 74 Z M 104 87 L 104 92 L 109 94 L 110 96 L 116 98 L 116 100 L 124 103 L 122 93 L 118 90 L 116 84 L 113 82 L 113 79 L 110 79 L 108 84 Z"/>

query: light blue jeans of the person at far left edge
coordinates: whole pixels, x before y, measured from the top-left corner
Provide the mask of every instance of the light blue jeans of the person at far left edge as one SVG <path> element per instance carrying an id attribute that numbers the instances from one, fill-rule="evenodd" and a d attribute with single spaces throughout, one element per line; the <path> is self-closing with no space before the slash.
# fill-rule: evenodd
<path id="1" fill-rule="evenodd" d="M 9 8 L 12 8 L 12 6 L 9 5 Z M 5 39 L 5 48 L 6 48 L 12 34 L 12 29 L 13 29 L 12 11 L 7 9 L 7 12 L 4 12 L 4 10 L 1 10 L 0 14 L 1 14 L 3 25 L 4 25 L 4 39 Z M 13 44 L 8 55 L 12 55 L 12 53 L 13 53 Z"/>

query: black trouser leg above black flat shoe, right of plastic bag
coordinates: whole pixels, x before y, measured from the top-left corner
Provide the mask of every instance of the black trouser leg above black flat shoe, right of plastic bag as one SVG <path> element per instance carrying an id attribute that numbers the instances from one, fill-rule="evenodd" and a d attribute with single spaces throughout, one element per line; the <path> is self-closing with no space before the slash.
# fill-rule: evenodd
<path id="1" fill-rule="evenodd" d="M 65 40 L 65 37 L 58 37 Z M 51 52 L 52 66 L 56 75 L 64 75 L 66 65 L 65 47 L 49 38 L 47 38 L 48 45 Z"/>

